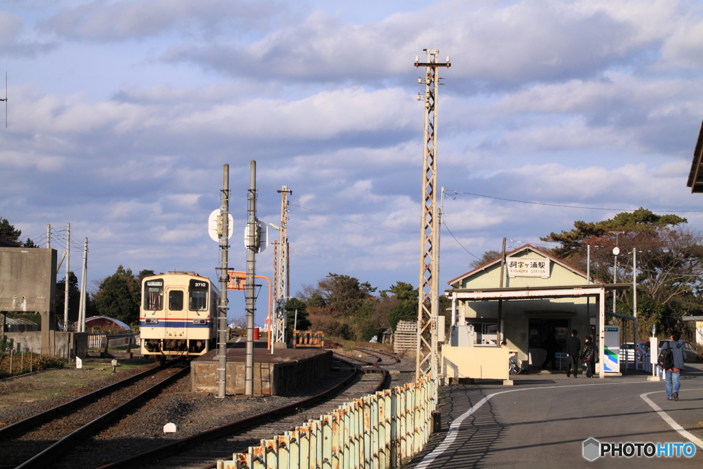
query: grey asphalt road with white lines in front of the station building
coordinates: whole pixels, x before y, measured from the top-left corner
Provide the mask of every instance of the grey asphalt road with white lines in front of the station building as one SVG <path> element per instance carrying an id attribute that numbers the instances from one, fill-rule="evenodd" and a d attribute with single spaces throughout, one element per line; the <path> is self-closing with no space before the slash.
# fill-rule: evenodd
<path id="1" fill-rule="evenodd" d="M 442 432 L 406 467 L 454 468 L 699 468 L 703 463 L 703 370 L 688 366 L 681 399 L 667 401 L 664 382 L 644 375 L 618 378 L 519 376 L 514 387 L 459 385 L 441 388 Z M 486 397 L 490 396 L 488 399 Z M 659 412 L 657 412 L 657 407 Z M 475 408 L 473 413 L 467 411 Z M 447 446 L 449 425 L 464 416 Z M 665 420 L 680 425 L 677 432 Z M 688 432 L 688 433 L 687 433 Z M 687 438 L 688 436 L 688 438 Z M 583 441 L 694 442 L 692 458 L 583 458 Z M 437 449 L 439 446 L 439 449 Z M 434 461 L 426 456 L 441 451 Z M 425 463 L 423 463 L 423 459 Z"/>

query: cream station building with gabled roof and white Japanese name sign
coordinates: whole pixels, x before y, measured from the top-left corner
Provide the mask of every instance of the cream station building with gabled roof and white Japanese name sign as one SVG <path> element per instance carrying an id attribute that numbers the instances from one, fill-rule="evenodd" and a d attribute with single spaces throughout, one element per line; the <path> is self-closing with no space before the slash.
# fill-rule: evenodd
<path id="1" fill-rule="evenodd" d="M 501 258 L 477 267 L 449 282 L 458 326 L 473 325 L 477 343 L 496 344 L 498 330 L 509 349 L 516 349 L 523 364 L 541 366 L 542 345 L 550 331 L 563 346 L 576 329 L 600 336 L 598 298 L 605 290 L 628 285 L 605 285 L 586 273 L 535 248 L 524 245 L 506 255 L 501 285 Z M 589 288 L 589 285 L 591 288 Z M 594 290 L 595 288 L 595 290 Z M 594 294 L 598 290 L 598 294 Z M 600 295 L 600 296 L 599 296 Z"/>

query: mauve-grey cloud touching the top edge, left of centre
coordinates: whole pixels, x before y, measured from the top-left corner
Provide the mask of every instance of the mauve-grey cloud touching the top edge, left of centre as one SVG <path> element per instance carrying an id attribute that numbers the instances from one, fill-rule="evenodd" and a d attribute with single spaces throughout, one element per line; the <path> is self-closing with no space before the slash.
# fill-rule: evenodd
<path id="1" fill-rule="evenodd" d="M 240 36 L 268 30 L 286 4 L 264 0 L 92 1 L 60 11 L 38 27 L 58 37 L 86 41 L 131 41 L 178 32 L 198 37 L 226 31 Z"/>

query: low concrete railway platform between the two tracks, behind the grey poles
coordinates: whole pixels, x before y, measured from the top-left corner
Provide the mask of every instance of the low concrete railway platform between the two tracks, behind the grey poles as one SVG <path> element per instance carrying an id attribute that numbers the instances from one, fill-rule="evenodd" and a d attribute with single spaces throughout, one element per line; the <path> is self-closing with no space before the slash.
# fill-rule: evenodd
<path id="1" fill-rule="evenodd" d="M 254 342 L 254 394 L 288 396 L 321 379 L 332 366 L 331 350 L 266 348 Z M 245 393 L 245 342 L 227 344 L 226 394 Z M 217 392 L 219 358 L 210 350 L 191 362 L 191 390 Z"/>

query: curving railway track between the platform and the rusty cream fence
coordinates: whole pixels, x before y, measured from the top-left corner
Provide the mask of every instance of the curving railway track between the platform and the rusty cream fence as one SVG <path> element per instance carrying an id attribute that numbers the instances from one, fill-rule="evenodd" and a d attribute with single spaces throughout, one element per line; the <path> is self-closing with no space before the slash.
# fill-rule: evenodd
<path id="1" fill-rule="evenodd" d="M 330 383 L 332 386 L 309 399 L 103 465 L 101 469 L 214 468 L 217 459 L 231 458 L 232 454 L 247 451 L 249 446 L 259 444 L 262 439 L 283 435 L 283 432 L 311 418 L 337 409 L 344 402 L 373 394 L 387 380 L 385 371 L 376 364 L 358 358 L 354 360 L 361 362 L 361 365 L 349 363 L 347 357 L 335 357 L 335 360 L 335 371 L 330 373 L 328 379 L 333 382 Z"/>

